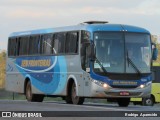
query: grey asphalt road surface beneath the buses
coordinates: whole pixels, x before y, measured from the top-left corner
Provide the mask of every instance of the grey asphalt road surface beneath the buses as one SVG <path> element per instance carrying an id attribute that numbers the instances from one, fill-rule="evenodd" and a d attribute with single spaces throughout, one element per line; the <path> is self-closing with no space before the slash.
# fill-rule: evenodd
<path id="1" fill-rule="evenodd" d="M 144 113 L 146 111 L 147 114 L 148 113 L 155 114 L 157 111 L 159 111 L 159 113 L 160 113 L 160 104 L 155 104 L 154 106 L 129 105 L 128 107 L 119 107 L 117 104 L 84 103 L 84 105 L 71 105 L 71 104 L 66 104 L 64 102 L 45 101 L 42 103 L 38 103 L 38 102 L 27 102 L 27 101 L 17 101 L 17 100 L 16 101 L 0 100 L 0 111 L 1 112 L 7 111 L 7 112 L 12 112 L 12 113 L 14 111 L 14 112 L 18 112 L 21 114 L 24 114 L 26 111 L 29 113 L 37 112 L 40 114 L 42 113 L 42 117 L 44 117 L 43 112 L 45 112 L 45 113 L 47 112 L 48 113 L 47 115 L 56 118 L 56 120 L 57 119 L 58 120 L 59 119 L 60 120 L 68 120 L 66 117 L 71 117 L 73 120 L 82 119 L 84 117 L 86 117 L 87 120 L 106 119 L 104 117 L 95 117 L 95 116 L 101 116 L 102 113 L 103 113 L 102 116 L 105 116 L 104 114 L 107 114 L 107 115 L 109 115 L 109 117 L 107 117 L 107 118 L 111 118 L 112 120 L 116 120 L 117 118 L 118 118 L 118 120 L 121 120 L 121 119 L 132 120 L 136 117 L 137 114 L 139 114 L 141 112 Z M 124 113 L 124 111 L 126 114 L 131 115 L 131 117 L 129 119 L 127 119 L 127 117 L 119 118 L 116 116 L 117 114 L 119 114 L 121 112 Z M 53 114 L 55 114 L 55 116 Z M 67 116 L 66 116 L 66 114 L 67 114 Z M 82 114 L 82 116 L 81 116 L 81 114 Z M 17 115 L 17 114 L 14 114 L 13 116 L 16 117 L 15 115 Z M 59 117 L 59 115 L 61 116 L 61 118 Z M 77 117 L 77 115 L 78 116 L 80 115 L 80 117 Z M 57 118 L 57 116 L 58 116 L 58 118 Z M 110 117 L 110 116 L 112 116 L 112 117 Z M 22 117 L 24 117 L 24 116 L 22 116 Z M 92 118 L 90 118 L 90 117 L 92 117 Z M 6 118 L 0 118 L 0 120 L 1 119 L 3 120 Z M 17 118 L 15 118 L 15 119 L 17 119 Z M 22 119 L 22 118 L 18 117 L 18 119 Z M 27 118 L 25 118 L 25 119 L 27 119 Z M 34 119 L 36 119 L 36 118 L 34 118 Z M 43 118 L 41 118 L 41 119 L 43 119 Z M 53 119 L 53 118 L 47 117 L 45 119 Z M 139 117 L 138 119 L 144 119 L 144 118 Z M 149 120 L 151 118 L 145 117 L 145 120 L 147 120 L 147 119 Z M 154 117 L 153 119 L 158 120 L 159 118 Z"/>

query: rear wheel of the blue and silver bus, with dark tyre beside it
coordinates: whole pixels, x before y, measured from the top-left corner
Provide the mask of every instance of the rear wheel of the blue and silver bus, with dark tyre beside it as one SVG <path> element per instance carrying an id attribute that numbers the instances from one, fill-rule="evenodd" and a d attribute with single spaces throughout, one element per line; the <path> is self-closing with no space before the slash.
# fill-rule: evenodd
<path id="1" fill-rule="evenodd" d="M 31 88 L 31 82 L 28 81 L 26 85 L 26 99 L 29 102 L 42 102 L 44 99 L 44 95 L 33 94 Z"/>

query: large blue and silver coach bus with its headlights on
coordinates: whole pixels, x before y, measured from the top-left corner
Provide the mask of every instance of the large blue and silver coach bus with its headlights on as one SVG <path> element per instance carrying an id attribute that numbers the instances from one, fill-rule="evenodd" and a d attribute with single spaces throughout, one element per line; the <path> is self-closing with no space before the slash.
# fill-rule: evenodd
<path id="1" fill-rule="evenodd" d="M 51 96 L 80 105 L 103 98 L 127 107 L 131 97 L 150 96 L 156 50 L 146 29 L 106 21 L 15 32 L 5 88 L 31 102 Z"/>

